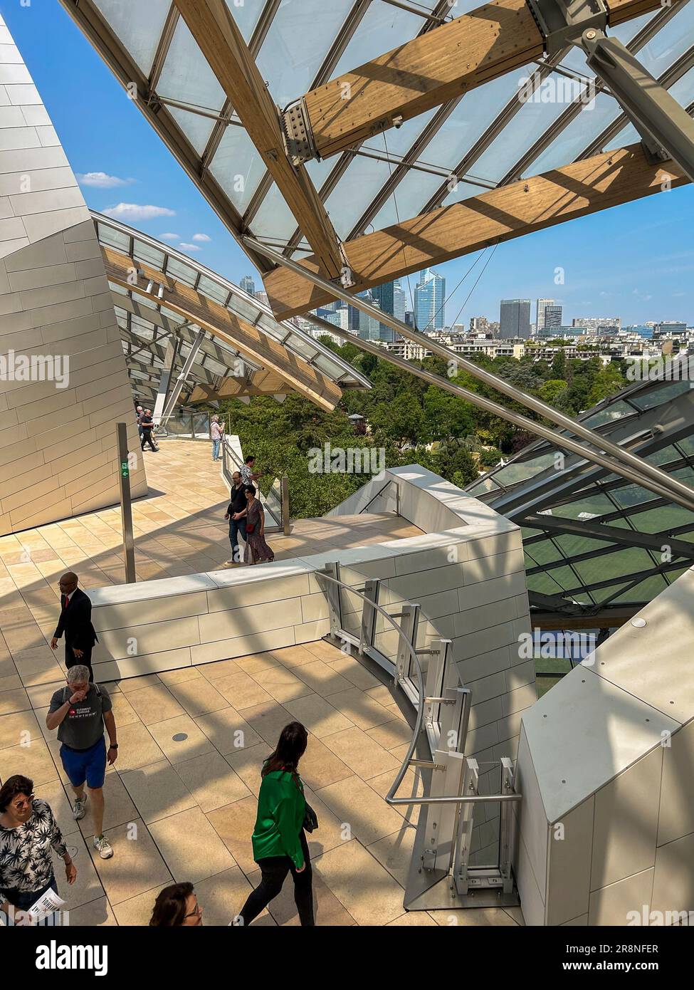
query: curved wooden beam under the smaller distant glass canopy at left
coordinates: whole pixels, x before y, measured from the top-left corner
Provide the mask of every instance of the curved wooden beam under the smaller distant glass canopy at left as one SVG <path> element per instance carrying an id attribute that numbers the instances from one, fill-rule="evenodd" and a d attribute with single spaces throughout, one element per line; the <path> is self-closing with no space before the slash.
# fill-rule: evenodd
<path id="1" fill-rule="evenodd" d="M 109 281 L 148 296 L 149 299 L 156 299 L 156 296 L 147 291 L 149 279 L 161 284 L 167 283 L 167 291 L 158 300 L 163 307 L 240 351 L 254 364 L 280 375 L 294 391 L 322 409 L 335 409 L 340 402 L 342 391 L 327 375 L 220 303 L 149 266 L 148 274 L 138 274 L 136 278 L 135 262 L 127 254 L 103 245 L 101 252 Z"/>

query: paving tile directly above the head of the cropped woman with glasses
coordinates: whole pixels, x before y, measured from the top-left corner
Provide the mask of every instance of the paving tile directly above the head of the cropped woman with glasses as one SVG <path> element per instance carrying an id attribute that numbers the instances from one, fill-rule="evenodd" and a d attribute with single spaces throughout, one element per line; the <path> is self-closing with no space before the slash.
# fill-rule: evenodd
<path id="1" fill-rule="evenodd" d="M 176 883 L 197 883 L 236 866 L 236 862 L 199 808 L 159 819 L 149 827 Z"/>

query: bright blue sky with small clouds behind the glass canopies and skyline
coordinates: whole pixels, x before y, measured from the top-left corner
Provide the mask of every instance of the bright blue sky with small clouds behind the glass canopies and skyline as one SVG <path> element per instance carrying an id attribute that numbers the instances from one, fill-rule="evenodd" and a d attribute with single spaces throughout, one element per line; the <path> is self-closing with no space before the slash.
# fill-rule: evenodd
<path id="1" fill-rule="evenodd" d="M 74 171 L 132 180 L 116 188 L 83 186 L 89 206 L 104 210 L 125 202 L 171 211 L 173 216 L 138 219 L 133 226 L 156 238 L 177 234 L 199 248 L 193 256 L 235 282 L 254 274 L 242 249 L 57 0 L 31 0 L 30 6 L 0 0 L 0 12 Z M 542 296 L 563 305 L 564 323 L 592 315 L 620 316 L 625 323 L 694 324 L 693 215 L 694 189 L 685 187 L 502 244 L 459 319 L 498 320 L 500 299 Z M 195 235 L 210 240 L 195 242 Z M 436 268 L 446 276 L 446 293 L 452 293 L 447 322 L 456 318 L 487 255 L 453 292 L 474 257 Z M 559 267 L 563 285 L 554 284 Z M 417 276 L 410 281 L 414 289 Z M 407 279 L 403 287 L 409 294 Z"/>

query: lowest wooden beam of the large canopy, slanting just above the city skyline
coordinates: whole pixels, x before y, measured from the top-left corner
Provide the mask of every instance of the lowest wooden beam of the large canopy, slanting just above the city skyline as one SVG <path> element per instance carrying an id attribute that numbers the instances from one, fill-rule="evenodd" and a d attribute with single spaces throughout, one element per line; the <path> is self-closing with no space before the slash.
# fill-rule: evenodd
<path id="1" fill-rule="evenodd" d="M 348 242 L 350 292 L 688 181 L 672 161 L 649 162 L 641 144 L 605 151 Z M 318 270 L 314 257 L 301 264 Z M 282 320 L 333 298 L 286 268 L 269 272 L 264 284 Z"/>

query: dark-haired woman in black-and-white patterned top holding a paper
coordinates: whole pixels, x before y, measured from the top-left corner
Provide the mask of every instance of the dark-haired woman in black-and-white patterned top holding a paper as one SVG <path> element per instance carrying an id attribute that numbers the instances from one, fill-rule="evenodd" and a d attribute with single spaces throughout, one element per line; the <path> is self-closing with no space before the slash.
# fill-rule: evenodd
<path id="1" fill-rule="evenodd" d="M 21 774 L 0 787 L 0 906 L 29 911 L 49 890 L 57 893 L 50 849 L 62 857 L 65 878 L 77 876 L 50 805 L 34 797 L 34 781 Z"/>

